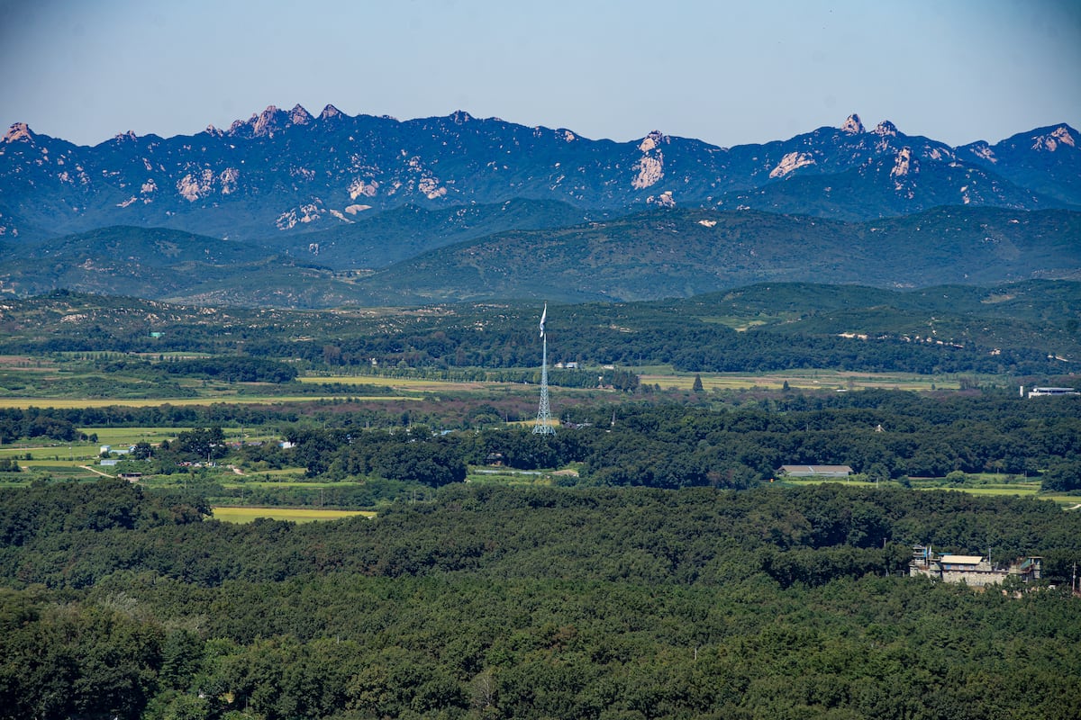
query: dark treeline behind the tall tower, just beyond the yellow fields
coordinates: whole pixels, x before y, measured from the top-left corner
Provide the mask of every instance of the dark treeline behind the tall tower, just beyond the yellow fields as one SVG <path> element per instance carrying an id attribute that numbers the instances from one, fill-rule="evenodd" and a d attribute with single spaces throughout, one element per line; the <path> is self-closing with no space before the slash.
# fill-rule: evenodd
<path id="1" fill-rule="evenodd" d="M 587 331 L 555 331 L 555 361 L 587 365 L 665 365 L 688 372 L 765 372 L 836 368 L 865 372 L 1013 373 L 1062 372 L 1062 363 L 1039 349 L 959 348 L 900 339 L 844 338 L 748 329 L 685 317 L 642 322 L 639 327 L 589 326 Z M 267 357 L 296 356 L 316 366 L 359 367 L 376 358 L 409 367 L 533 367 L 538 348 L 532 331 L 516 327 L 436 325 L 426 331 L 373 332 L 334 344 L 318 340 L 253 339 L 248 352 Z"/>

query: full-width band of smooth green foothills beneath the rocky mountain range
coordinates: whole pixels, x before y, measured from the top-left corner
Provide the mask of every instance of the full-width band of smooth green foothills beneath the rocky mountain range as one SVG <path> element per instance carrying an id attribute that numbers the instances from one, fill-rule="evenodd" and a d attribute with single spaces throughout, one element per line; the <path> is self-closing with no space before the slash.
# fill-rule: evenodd
<path id="1" fill-rule="evenodd" d="M 498 231 L 501 219 L 513 229 Z M 539 202 L 402 208 L 299 245 L 112 227 L 13 246 L 0 290 L 331 308 L 656 300 L 765 282 L 913 288 L 1081 276 L 1081 213 L 1070 210 L 937 207 L 846 222 L 654 208 L 584 219 Z"/>

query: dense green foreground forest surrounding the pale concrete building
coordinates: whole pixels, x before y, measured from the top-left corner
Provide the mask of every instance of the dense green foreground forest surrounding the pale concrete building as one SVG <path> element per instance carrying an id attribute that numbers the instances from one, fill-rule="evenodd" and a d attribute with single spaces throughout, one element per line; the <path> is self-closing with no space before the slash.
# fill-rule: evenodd
<path id="1" fill-rule="evenodd" d="M 208 512 L 0 492 L 0 718 L 1065 720 L 1081 692 L 1065 586 L 898 574 L 913 542 L 991 540 L 1068 575 L 1081 516 L 1052 503 L 455 485 L 374 520 Z"/>

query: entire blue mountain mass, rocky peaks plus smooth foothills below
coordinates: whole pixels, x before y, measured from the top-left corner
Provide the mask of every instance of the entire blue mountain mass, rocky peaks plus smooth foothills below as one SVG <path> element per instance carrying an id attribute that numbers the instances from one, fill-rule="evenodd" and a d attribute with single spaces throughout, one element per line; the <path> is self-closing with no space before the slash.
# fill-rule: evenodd
<path id="1" fill-rule="evenodd" d="M 16 124 L 0 291 L 323 307 L 1076 279 L 1079 140 L 1058 124 L 952 148 L 851 116 L 720 148 L 333 106 L 95 147 Z"/>

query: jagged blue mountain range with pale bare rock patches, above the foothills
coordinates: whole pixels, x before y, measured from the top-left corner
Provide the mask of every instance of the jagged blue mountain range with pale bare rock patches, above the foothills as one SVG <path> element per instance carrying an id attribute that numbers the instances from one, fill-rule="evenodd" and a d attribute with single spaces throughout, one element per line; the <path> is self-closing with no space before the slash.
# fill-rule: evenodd
<path id="1" fill-rule="evenodd" d="M 583 212 L 753 208 L 864 220 L 938 205 L 1081 206 L 1076 130 L 951 148 L 856 114 L 787 140 L 720 148 L 654 131 L 588 139 L 457 111 L 399 121 L 270 106 L 228 130 L 121 134 L 94 147 L 23 123 L 0 141 L 0 241 L 107 226 L 263 240 L 388 209 L 558 201 Z"/>

